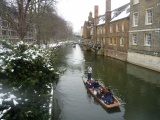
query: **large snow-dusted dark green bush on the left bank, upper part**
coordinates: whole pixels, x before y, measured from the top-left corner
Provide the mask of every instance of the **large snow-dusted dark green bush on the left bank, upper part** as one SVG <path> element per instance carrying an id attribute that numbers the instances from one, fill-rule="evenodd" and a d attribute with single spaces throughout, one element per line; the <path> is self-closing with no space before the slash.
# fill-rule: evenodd
<path id="1" fill-rule="evenodd" d="M 55 79 L 56 53 L 24 42 L 0 40 L 0 72 L 13 82 L 35 84 Z"/>

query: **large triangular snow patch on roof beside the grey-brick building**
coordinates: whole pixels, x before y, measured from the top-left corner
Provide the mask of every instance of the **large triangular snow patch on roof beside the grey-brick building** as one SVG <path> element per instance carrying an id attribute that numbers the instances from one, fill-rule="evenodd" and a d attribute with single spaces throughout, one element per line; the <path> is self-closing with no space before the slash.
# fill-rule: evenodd
<path id="1" fill-rule="evenodd" d="M 117 21 L 117 20 L 128 17 L 130 15 L 129 9 L 130 9 L 130 5 L 128 5 L 124 11 L 122 11 L 119 15 L 114 17 L 110 22 Z"/>

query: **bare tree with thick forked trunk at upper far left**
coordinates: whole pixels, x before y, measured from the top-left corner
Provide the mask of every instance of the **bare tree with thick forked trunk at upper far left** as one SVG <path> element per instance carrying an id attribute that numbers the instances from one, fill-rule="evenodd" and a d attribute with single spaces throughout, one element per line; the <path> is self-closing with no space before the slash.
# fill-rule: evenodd
<path id="1" fill-rule="evenodd" d="M 27 18 L 30 2 L 31 0 L 8 0 L 0 6 L 2 19 L 10 23 L 21 40 L 24 39 L 30 24 Z"/>

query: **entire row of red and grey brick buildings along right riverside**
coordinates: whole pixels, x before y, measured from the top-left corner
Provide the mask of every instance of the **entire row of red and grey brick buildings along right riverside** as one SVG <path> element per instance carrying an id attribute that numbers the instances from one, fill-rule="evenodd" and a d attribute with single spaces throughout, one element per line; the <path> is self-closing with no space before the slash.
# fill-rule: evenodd
<path id="1" fill-rule="evenodd" d="M 114 10 L 111 0 L 106 0 L 103 15 L 98 15 L 98 6 L 94 7 L 94 17 L 89 13 L 82 38 L 92 43 L 90 48 L 96 54 L 160 72 L 159 15 L 160 0 L 130 0 Z"/>

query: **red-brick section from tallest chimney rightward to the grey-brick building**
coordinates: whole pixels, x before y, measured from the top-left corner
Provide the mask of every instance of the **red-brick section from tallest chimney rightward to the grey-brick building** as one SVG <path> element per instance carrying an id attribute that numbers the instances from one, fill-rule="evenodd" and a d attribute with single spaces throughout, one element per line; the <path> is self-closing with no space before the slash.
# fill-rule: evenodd
<path id="1" fill-rule="evenodd" d="M 123 61 L 127 60 L 129 3 L 110 10 L 111 0 L 106 0 L 106 47 L 104 54 Z"/>

